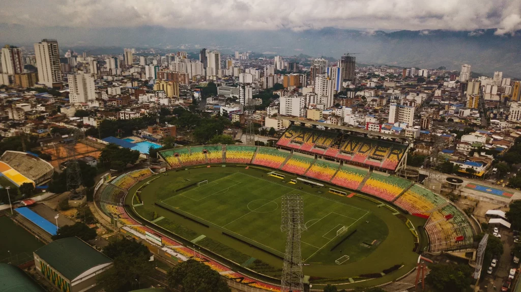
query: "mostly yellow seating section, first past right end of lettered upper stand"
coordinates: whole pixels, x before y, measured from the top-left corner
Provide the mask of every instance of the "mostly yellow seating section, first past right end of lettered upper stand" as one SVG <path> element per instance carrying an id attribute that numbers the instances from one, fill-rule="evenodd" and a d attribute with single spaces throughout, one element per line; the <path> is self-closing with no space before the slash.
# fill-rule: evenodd
<path id="1" fill-rule="evenodd" d="M 443 197 L 420 187 L 418 184 L 413 185 L 394 201 L 394 205 L 407 210 L 411 214 L 428 213 L 445 203 L 446 201 Z"/>

